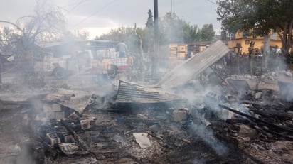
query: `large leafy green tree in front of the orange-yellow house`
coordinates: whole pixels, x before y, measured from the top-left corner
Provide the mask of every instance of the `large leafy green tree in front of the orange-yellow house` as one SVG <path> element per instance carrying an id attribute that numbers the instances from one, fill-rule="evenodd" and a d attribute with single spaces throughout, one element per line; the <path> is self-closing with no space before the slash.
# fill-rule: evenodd
<path id="1" fill-rule="evenodd" d="M 282 52 L 288 53 L 292 46 L 292 0 L 219 0 L 217 3 L 218 21 L 222 22 L 224 30 L 235 33 L 256 29 L 255 35 L 264 36 L 265 53 L 268 52 L 272 30 L 282 40 Z M 265 63 L 267 65 L 267 61 Z"/>

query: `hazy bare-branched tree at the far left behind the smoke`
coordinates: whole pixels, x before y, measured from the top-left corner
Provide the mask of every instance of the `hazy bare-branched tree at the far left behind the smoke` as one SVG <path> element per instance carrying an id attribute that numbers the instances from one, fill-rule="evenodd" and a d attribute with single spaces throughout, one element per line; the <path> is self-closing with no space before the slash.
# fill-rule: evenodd
<path id="1" fill-rule="evenodd" d="M 19 35 L 16 40 L 17 57 L 20 68 L 26 72 L 33 72 L 33 50 L 36 41 L 44 36 L 60 35 L 64 31 L 65 18 L 58 6 L 50 6 L 46 0 L 36 1 L 34 14 L 18 18 L 16 23 L 0 20 L 16 29 Z"/>

